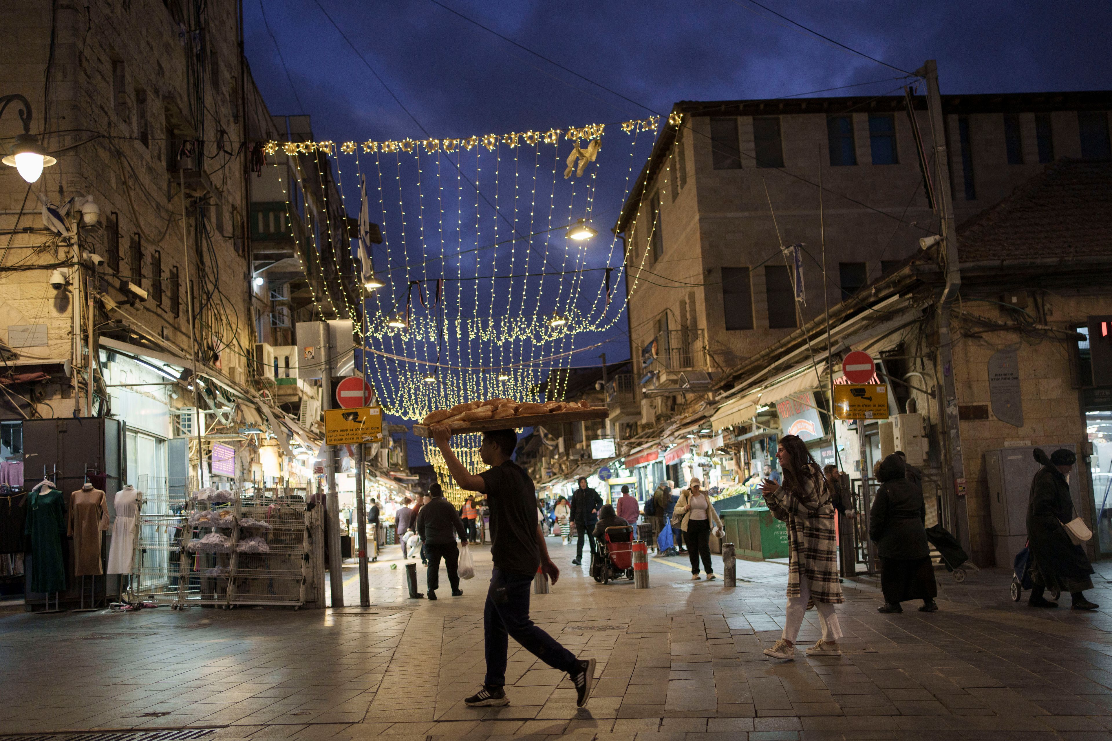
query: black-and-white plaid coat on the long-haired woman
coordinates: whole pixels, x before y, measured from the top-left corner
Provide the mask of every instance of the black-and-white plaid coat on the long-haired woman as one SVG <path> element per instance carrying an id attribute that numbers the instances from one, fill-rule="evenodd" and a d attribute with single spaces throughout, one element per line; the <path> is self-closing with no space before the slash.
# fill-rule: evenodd
<path id="1" fill-rule="evenodd" d="M 792 558 L 787 568 L 787 595 L 800 597 L 800 574 L 807 577 L 814 602 L 844 602 L 837 571 L 837 541 L 834 535 L 834 505 L 831 491 L 821 473 L 820 491 L 808 480 L 806 491 L 781 487 L 765 494 L 765 502 L 777 520 L 787 523 L 787 544 Z"/>

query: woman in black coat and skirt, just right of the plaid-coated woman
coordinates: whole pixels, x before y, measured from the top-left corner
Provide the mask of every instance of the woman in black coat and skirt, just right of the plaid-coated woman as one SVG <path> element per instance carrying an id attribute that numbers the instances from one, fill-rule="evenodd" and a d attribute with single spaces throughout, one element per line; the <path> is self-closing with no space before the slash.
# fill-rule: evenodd
<path id="1" fill-rule="evenodd" d="M 876 478 L 873 509 L 868 515 L 868 539 L 876 543 L 881 558 L 881 590 L 884 604 L 881 612 L 903 612 L 901 602 L 923 600 L 920 612 L 939 609 L 934 598 L 939 585 L 931 565 L 931 547 L 926 542 L 926 504 L 923 490 L 906 478 L 900 455 L 881 461 Z"/>

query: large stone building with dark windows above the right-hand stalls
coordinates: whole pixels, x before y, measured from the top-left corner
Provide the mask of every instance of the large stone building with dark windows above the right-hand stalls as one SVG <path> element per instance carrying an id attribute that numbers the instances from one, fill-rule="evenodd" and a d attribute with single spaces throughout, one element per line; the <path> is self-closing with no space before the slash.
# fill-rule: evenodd
<path id="1" fill-rule="evenodd" d="M 912 107 L 930 152 L 924 99 Z M 944 96 L 943 107 L 959 224 L 1050 162 L 1109 148 L 1109 92 Z M 638 380 L 668 367 L 713 377 L 743 362 L 939 231 L 904 96 L 684 101 L 674 113 L 683 124 L 663 129 L 616 227 L 632 278 L 643 268 L 658 283 L 629 300 L 633 357 L 655 356 Z M 778 249 L 795 243 L 798 313 Z M 645 387 L 643 423 L 674 411 L 677 384 L 659 378 Z M 664 387 L 655 400 L 654 384 Z"/>

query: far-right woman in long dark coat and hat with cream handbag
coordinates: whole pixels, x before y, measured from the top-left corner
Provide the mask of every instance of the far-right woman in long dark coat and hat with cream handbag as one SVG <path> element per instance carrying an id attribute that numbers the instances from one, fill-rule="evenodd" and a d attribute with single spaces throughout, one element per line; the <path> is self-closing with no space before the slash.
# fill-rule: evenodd
<path id="1" fill-rule="evenodd" d="M 1074 610 L 1095 610 L 1098 605 L 1085 599 L 1084 590 L 1092 589 L 1089 578 L 1093 567 L 1081 545 L 1070 539 L 1064 523 L 1072 520 L 1073 500 L 1070 483 L 1065 477 L 1076 462 L 1073 451 L 1060 448 L 1050 458 L 1035 448 L 1034 458 L 1042 469 L 1031 481 L 1031 498 L 1027 503 L 1027 542 L 1031 548 L 1034 588 L 1027 604 L 1033 608 L 1056 608 L 1043 597 L 1048 587 L 1058 587 L 1070 592 Z"/>

